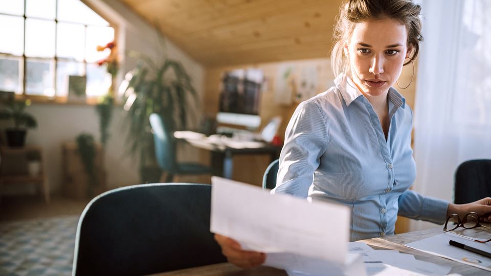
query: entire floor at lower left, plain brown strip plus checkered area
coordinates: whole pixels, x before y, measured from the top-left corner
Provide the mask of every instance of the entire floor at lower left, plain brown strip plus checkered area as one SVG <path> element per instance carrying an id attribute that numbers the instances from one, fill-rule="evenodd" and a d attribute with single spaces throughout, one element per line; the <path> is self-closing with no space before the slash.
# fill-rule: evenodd
<path id="1" fill-rule="evenodd" d="M 0 275 L 70 275 L 77 222 L 89 200 L 0 201 Z"/>

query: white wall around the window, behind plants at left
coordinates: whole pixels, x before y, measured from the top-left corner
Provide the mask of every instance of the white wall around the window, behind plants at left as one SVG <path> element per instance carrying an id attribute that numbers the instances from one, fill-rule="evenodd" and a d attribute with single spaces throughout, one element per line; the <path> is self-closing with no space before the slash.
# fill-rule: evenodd
<path id="1" fill-rule="evenodd" d="M 133 50 L 158 60 L 162 55 L 157 32 L 144 20 L 133 13 L 117 0 L 84 0 L 88 6 L 97 10 L 101 15 L 117 26 L 118 46 L 120 53 Z M 204 67 L 167 41 L 167 56 L 181 61 L 193 80 L 193 86 L 198 95 L 203 95 Z M 135 60 L 121 57 L 121 69 L 118 82 L 124 74 L 135 65 Z M 201 97 L 201 96 L 200 96 Z M 94 106 L 87 105 L 57 105 L 33 103 L 27 108 L 37 121 L 37 129 L 28 131 L 27 143 L 36 144 L 43 148 L 45 170 L 47 172 L 52 193 L 61 190 L 61 145 L 64 142 L 75 141 L 82 133 L 92 133 L 99 140 L 99 120 Z M 198 112 L 199 113 L 199 112 Z M 109 188 L 133 185 L 139 183 L 138 164 L 135 159 L 124 155 L 125 133 L 124 111 L 116 107 L 110 125 L 110 139 L 107 142 L 105 166 Z"/>

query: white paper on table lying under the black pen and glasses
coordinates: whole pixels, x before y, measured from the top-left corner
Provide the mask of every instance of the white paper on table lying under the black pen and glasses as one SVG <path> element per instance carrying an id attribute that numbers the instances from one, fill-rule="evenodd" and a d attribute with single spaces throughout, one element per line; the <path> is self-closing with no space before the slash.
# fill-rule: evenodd
<path id="1" fill-rule="evenodd" d="M 489 235 L 489 233 L 484 232 L 483 235 Z M 475 237 L 479 238 L 479 235 L 476 235 Z M 491 252 L 491 245 L 468 240 L 453 233 L 442 233 L 405 245 L 407 247 L 427 252 L 429 254 L 491 271 L 491 259 L 476 254 L 474 252 L 452 246 L 449 244 L 450 240 L 454 240 L 456 242 L 460 242 L 487 252 Z"/>

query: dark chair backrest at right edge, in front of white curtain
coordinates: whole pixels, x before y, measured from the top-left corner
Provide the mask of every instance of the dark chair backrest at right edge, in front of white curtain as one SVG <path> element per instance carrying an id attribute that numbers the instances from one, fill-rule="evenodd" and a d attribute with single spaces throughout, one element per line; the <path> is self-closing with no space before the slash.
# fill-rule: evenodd
<path id="1" fill-rule="evenodd" d="M 455 172 L 454 202 L 469 203 L 491 196 L 491 160 L 468 160 Z"/>

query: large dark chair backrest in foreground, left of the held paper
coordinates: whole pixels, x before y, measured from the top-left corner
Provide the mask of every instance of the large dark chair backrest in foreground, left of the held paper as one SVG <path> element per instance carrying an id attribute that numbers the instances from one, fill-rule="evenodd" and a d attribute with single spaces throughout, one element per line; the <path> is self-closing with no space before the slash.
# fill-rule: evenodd
<path id="1" fill-rule="evenodd" d="M 211 186 L 159 183 L 94 198 L 80 217 L 73 275 L 141 275 L 226 262 L 210 233 Z"/>

